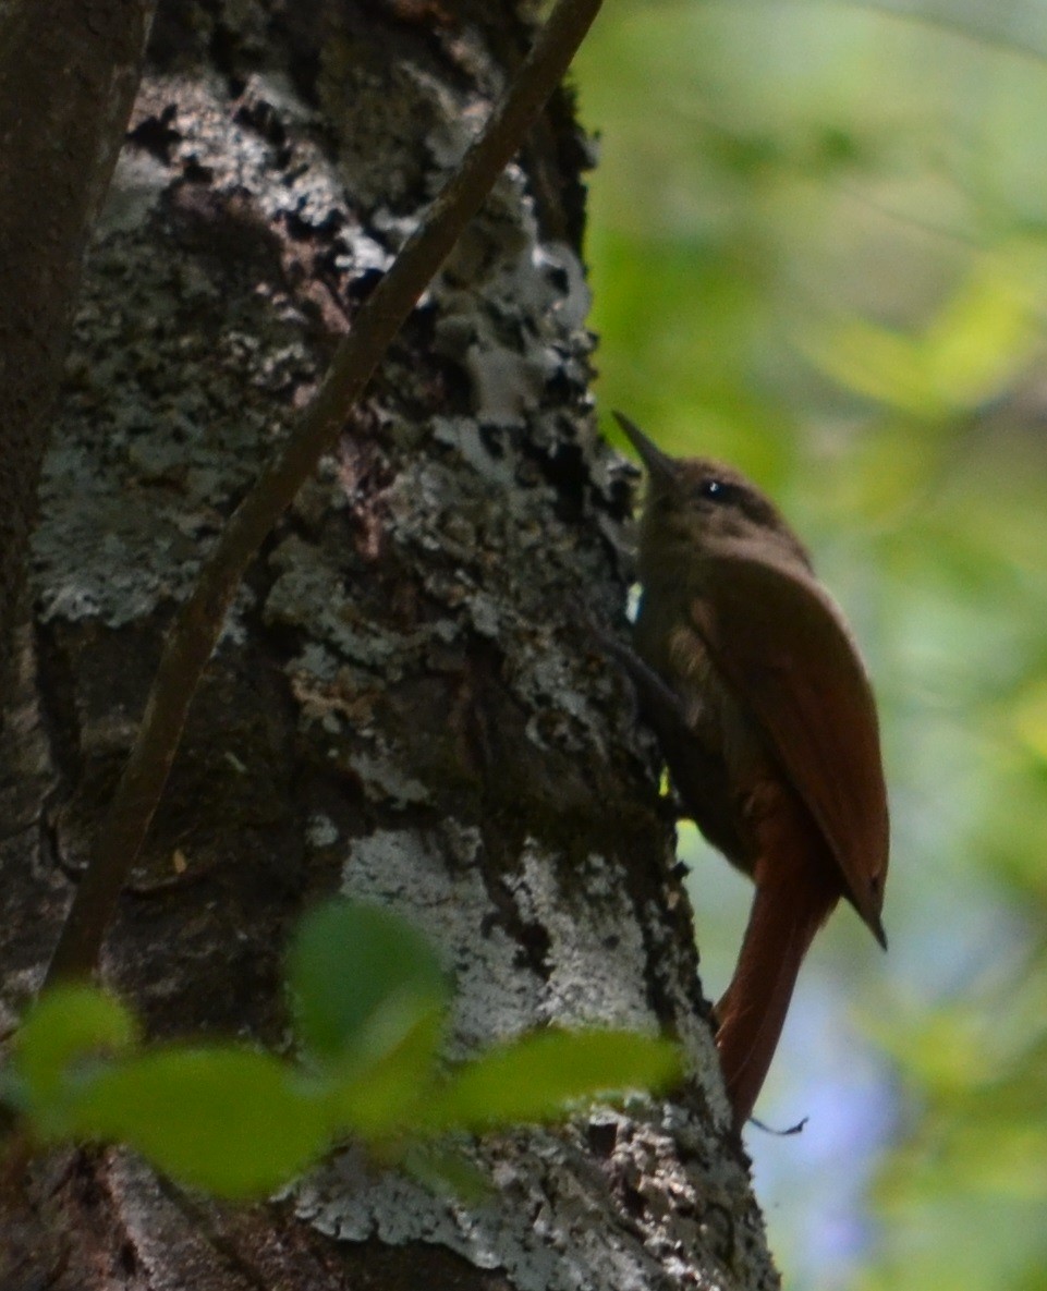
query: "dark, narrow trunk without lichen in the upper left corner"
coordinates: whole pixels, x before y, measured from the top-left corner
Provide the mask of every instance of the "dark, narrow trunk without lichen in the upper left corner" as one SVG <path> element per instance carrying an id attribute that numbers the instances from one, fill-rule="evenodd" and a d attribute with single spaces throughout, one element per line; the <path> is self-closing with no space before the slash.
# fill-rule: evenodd
<path id="1" fill-rule="evenodd" d="M 151 13 L 151 0 L 0 6 L 0 696 L 84 248 Z"/>

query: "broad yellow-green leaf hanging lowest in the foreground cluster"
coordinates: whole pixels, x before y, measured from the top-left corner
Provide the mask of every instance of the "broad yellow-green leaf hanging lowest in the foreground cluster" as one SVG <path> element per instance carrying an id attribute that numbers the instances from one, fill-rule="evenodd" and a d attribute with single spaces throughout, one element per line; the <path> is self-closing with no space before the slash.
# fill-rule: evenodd
<path id="1" fill-rule="evenodd" d="M 128 1144 L 219 1197 L 261 1197 L 315 1161 L 325 1100 L 279 1059 L 170 1046 L 99 1072 L 71 1106 L 72 1133 Z"/>

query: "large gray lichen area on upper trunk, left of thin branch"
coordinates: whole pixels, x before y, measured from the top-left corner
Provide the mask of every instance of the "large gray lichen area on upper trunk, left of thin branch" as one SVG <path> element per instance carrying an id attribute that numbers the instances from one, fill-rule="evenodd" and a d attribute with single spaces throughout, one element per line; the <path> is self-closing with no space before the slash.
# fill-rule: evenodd
<path id="1" fill-rule="evenodd" d="M 314 116 L 279 72 L 253 76 L 235 102 L 217 76 L 155 77 L 143 94 L 92 248 L 41 484 L 46 616 L 120 626 L 186 594 L 198 540 L 275 451 L 346 328 L 337 288 L 290 230 L 324 230 L 346 278 L 387 262 L 311 137 Z M 276 121 L 281 146 L 259 128 Z"/>

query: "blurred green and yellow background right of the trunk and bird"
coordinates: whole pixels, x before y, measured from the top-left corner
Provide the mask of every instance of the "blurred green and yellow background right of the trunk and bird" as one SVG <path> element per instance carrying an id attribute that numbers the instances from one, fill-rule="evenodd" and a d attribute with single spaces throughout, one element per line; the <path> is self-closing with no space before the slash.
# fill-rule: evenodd
<path id="1" fill-rule="evenodd" d="M 891 950 L 833 918 L 747 1132 L 786 1286 L 1047 1288 L 1047 0 L 607 0 L 576 84 L 608 434 L 767 487 L 880 700 Z"/>

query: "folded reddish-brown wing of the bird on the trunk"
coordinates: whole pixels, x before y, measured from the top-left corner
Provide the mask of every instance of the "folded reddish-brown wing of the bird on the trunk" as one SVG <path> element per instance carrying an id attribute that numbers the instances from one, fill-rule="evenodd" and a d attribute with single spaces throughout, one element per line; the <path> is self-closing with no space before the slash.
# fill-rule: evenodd
<path id="1" fill-rule="evenodd" d="M 802 572 L 747 554 L 704 567 L 692 617 L 817 821 L 877 939 L 887 878 L 887 790 L 865 666 L 843 615 Z"/>

